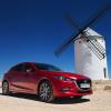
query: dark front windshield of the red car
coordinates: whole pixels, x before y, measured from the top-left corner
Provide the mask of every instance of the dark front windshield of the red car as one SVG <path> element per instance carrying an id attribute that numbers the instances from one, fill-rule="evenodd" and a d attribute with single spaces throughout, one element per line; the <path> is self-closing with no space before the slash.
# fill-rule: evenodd
<path id="1" fill-rule="evenodd" d="M 51 64 L 44 64 L 44 63 L 34 63 L 34 64 L 39 70 L 61 71 L 59 68 L 51 65 Z"/>

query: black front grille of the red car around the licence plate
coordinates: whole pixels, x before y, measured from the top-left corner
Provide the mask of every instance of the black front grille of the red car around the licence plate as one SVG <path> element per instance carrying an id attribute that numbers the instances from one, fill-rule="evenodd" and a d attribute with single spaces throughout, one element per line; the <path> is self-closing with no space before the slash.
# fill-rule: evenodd
<path id="1" fill-rule="evenodd" d="M 77 80 L 75 83 L 81 90 L 89 90 L 92 87 L 91 80 Z M 90 84 L 90 88 L 81 88 L 81 84 L 84 83 Z"/>

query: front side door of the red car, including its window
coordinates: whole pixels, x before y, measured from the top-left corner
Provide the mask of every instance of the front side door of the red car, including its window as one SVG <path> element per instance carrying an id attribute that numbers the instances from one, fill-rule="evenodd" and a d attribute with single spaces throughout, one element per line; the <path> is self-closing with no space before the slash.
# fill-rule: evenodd
<path id="1" fill-rule="evenodd" d="M 23 64 L 20 74 L 19 85 L 23 89 L 23 92 L 34 93 L 37 89 L 37 71 L 32 64 Z"/>

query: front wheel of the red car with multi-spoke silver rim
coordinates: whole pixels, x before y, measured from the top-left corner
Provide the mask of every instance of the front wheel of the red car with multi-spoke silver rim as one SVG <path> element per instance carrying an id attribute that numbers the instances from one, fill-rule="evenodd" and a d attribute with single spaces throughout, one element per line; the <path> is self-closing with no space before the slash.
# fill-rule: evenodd
<path id="1" fill-rule="evenodd" d="M 53 101 L 53 89 L 49 81 L 43 81 L 39 87 L 39 99 L 43 102 Z"/>

